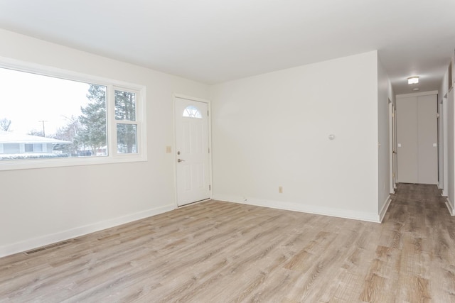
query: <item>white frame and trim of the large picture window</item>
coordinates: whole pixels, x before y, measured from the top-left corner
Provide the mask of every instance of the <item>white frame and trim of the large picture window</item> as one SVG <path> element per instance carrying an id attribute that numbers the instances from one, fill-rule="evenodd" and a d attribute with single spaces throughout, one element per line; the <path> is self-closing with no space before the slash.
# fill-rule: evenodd
<path id="1" fill-rule="evenodd" d="M 107 79 L 79 72 L 62 70 L 55 67 L 22 62 L 0 57 L 0 67 L 18 72 L 29 72 L 37 75 L 68 79 L 88 84 L 99 84 L 107 87 L 107 156 L 75 157 L 75 158 L 48 158 L 29 160 L 0 160 L 1 170 L 24 170 L 45 167 L 66 167 L 77 165 L 99 165 L 119 162 L 142 162 L 147 160 L 146 151 L 146 87 L 140 84 Z M 117 122 L 115 120 L 114 90 L 125 90 L 136 94 L 136 121 L 137 124 L 137 153 L 117 153 Z"/>

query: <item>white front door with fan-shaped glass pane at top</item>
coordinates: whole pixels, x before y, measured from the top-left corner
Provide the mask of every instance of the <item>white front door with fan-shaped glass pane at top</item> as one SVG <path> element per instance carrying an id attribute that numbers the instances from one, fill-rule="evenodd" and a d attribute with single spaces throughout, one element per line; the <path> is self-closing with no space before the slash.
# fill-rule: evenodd
<path id="1" fill-rule="evenodd" d="M 208 104 L 174 98 L 178 206 L 210 199 Z"/>

